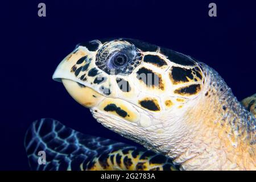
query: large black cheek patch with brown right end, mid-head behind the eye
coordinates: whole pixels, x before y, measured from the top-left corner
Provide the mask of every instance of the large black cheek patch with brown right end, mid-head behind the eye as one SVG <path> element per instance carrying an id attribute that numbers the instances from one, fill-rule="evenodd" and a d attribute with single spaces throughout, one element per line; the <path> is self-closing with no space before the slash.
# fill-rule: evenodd
<path id="1" fill-rule="evenodd" d="M 142 80 L 147 86 L 157 86 L 161 90 L 164 90 L 164 84 L 160 75 L 152 72 L 145 67 L 139 68 L 137 71 L 138 80 Z"/>

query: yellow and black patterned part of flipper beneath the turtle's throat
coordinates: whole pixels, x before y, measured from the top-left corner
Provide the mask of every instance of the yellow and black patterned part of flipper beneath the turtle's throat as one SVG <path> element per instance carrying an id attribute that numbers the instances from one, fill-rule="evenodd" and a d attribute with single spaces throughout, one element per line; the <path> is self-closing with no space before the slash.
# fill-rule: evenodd
<path id="1" fill-rule="evenodd" d="M 180 168 L 165 155 L 133 146 L 102 153 L 90 160 L 90 163 L 93 165 L 89 165 L 87 170 L 92 171 L 177 171 Z"/>

